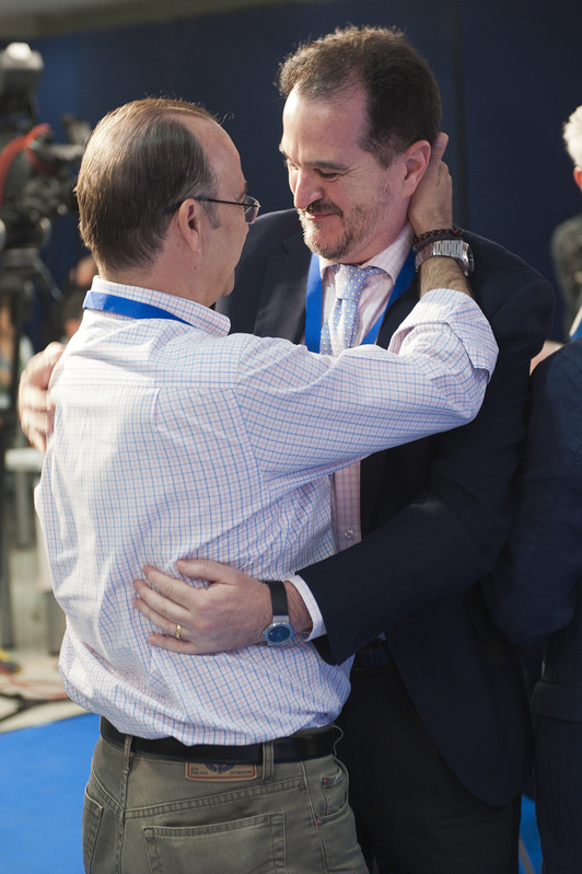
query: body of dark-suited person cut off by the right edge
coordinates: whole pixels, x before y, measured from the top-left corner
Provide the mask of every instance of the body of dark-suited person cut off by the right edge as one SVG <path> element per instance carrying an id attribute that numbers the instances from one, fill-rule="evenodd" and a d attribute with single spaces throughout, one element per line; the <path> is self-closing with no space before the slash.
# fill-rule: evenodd
<path id="1" fill-rule="evenodd" d="M 544 872 L 582 859 L 582 340 L 536 368 L 511 537 L 486 594 L 510 640 L 546 641 L 534 690 Z M 547 640 L 546 640 L 547 639 Z"/>

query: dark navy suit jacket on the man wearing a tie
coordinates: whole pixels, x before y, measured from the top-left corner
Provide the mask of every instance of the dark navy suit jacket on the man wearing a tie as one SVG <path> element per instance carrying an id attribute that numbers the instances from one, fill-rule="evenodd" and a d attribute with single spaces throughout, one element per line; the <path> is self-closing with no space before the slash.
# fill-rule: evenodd
<path id="1" fill-rule="evenodd" d="M 301 571 L 321 607 L 323 657 L 341 662 L 384 632 L 424 724 L 457 778 L 504 804 L 531 769 L 528 708 L 514 652 L 485 609 L 487 574 L 511 522 L 508 493 L 524 434 L 529 359 L 550 329 L 552 289 L 504 249 L 466 234 L 472 286 L 500 346 L 477 418 L 362 462 L 362 543 Z M 234 331 L 300 342 L 311 253 L 294 210 L 251 229 L 233 295 Z M 415 278 L 388 310 L 386 346 L 418 300 Z"/>

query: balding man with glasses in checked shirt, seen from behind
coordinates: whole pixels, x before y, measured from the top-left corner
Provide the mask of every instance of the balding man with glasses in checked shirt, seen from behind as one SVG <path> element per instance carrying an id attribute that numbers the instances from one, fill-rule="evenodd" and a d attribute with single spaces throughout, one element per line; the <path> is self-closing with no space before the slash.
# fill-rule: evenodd
<path id="1" fill-rule="evenodd" d="M 451 221 L 444 145 L 421 147 L 395 186 L 407 204 L 432 195 L 419 232 Z M 36 509 L 67 614 L 65 686 L 102 716 L 85 867 L 363 874 L 334 757 L 348 670 L 318 657 L 300 588 L 278 580 L 333 552 L 334 470 L 476 415 L 497 358 L 489 324 L 456 262 L 435 256 L 388 350 L 229 335 L 211 307 L 259 205 L 228 134 L 189 103 L 105 116 L 77 196 L 98 276 L 53 378 Z M 198 554 L 270 577 L 256 584 L 269 596 L 256 645 L 195 660 L 148 646 L 135 577 Z"/>

